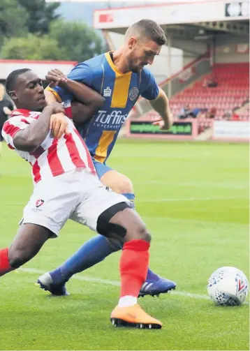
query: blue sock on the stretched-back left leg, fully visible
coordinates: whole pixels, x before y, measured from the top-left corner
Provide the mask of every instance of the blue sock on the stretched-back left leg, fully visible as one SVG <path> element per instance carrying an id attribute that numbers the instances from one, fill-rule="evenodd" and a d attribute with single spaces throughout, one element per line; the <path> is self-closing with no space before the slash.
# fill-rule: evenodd
<path id="1" fill-rule="evenodd" d="M 122 246 L 112 245 L 103 235 L 97 235 L 84 243 L 64 264 L 51 271 L 50 275 L 54 283 L 66 283 L 73 274 L 94 266 L 121 248 Z"/>

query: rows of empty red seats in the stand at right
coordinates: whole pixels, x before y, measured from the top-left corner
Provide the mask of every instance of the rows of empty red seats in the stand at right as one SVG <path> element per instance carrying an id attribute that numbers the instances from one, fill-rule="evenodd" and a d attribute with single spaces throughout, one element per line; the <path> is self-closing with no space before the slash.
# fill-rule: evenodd
<path id="1" fill-rule="evenodd" d="M 207 87 L 206 82 L 216 77 L 216 87 Z M 215 119 L 226 118 L 233 114 L 234 109 L 240 109 L 249 98 L 249 64 L 215 64 L 212 74 L 204 75 L 192 86 L 187 87 L 172 97 L 170 105 L 177 117 L 180 110 L 189 105 L 190 109 L 216 110 Z M 249 112 L 243 109 L 239 112 L 240 119 L 249 119 Z"/>

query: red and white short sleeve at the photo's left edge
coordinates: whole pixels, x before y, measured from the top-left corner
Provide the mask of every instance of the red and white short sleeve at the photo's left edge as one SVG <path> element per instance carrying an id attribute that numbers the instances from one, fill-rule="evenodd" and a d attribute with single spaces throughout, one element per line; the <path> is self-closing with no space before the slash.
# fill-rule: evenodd
<path id="1" fill-rule="evenodd" d="M 10 149 L 15 149 L 13 139 L 16 133 L 27 128 L 28 126 L 29 123 L 27 120 L 21 116 L 10 117 L 8 121 L 4 122 L 1 134 L 3 135 L 3 139 L 6 141 Z"/>

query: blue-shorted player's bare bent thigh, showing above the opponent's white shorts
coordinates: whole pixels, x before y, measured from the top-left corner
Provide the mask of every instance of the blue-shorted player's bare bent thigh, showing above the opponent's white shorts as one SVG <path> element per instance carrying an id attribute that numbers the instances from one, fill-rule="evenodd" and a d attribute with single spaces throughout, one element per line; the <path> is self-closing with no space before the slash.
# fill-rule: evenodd
<path id="1" fill-rule="evenodd" d="M 132 181 L 126 175 L 112 170 L 111 167 L 93 159 L 98 178 L 103 185 L 111 188 L 115 193 L 133 193 Z"/>

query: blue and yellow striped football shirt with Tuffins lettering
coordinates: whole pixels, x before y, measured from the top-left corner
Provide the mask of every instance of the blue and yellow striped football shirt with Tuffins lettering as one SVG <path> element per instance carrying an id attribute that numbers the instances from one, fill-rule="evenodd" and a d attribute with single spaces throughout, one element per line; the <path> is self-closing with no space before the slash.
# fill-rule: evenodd
<path id="1" fill-rule="evenodd" d="M 105 163 L 122 124 L 139 96 L 154 100 L 159 95 L 159 87 L 147 68 L 139 73 L 119 72 L 112 62 L 110 52 L 78 64 L 71 70 L 68 78 L 86 84 L 105 98 L 101 110 L 90 121 L 78 126 L 91 156 Z M 60 87 L 55 87 L 52 91 L 64 103 L 73 99 L 68 91 Z"/>

